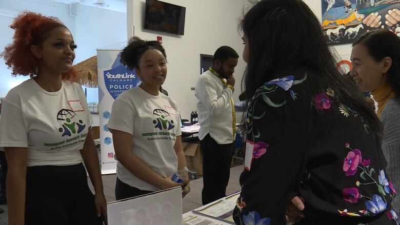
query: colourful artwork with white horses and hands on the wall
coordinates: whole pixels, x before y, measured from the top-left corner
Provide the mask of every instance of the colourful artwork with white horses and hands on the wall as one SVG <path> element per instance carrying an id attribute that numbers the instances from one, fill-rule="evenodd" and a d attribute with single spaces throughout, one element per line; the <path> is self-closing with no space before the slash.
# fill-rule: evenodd
<path id="1" fill-rule="evenodd" d="M 321 0 L 330 45 L 351 44 L 365 32 L 387 29 L 400 37 L 400 0 Z"/>

